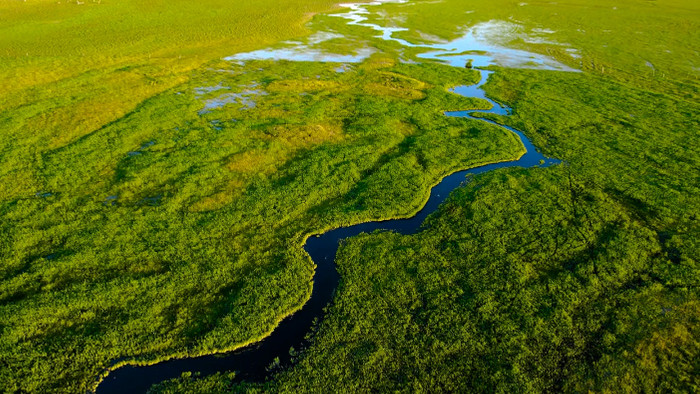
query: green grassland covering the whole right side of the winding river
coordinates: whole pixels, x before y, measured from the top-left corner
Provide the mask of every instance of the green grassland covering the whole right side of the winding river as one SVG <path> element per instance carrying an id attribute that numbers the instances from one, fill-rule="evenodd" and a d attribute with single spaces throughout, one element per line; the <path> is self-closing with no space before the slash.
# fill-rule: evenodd
<path id="1" fill-rule="evenodd" d="M 514 108 L 492 119 L 565 165 L 480 175 L 421 233 L 348 240 L 312 345 L 272 381 L 190 376 L 156 392 L 697 391 L 698 8 L 528 3 L 387 5 L 377 20 L 420 26 L 400 33 L 416 40 L 454 37 L 463 15 L 556 30 L 582 58 L 511 44 L 583 74 L 497 69 L 486 90 Z"/>

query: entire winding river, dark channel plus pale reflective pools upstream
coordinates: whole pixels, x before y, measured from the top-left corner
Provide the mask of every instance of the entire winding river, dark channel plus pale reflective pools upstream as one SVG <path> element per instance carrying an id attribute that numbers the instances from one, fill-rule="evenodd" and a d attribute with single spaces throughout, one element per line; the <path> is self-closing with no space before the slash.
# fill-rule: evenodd
<path id="1" fill-rule="evenodd" d="M 434 45 L 415 45 L 405 40 L 394 38 L 393 34 L 403 31 L 403 28 L 385 28 L 375 24 L 366 23 L 369 7 L 377 3 L 347 4 L 349 11 L 344 14 L 335 14 L 348 20 L 348 24 L 367 26 L 377 30 L 381 38 L 387 41 L 396 41 L 406 47 L 421 47 L 432 52 L 419 55 L 420 58 L 439 59 L 456 67 L 463 67 L 467 61 L 471 61 L 474 67 L 486 67 L 493 64 L 506 65 L 511 67 L 523 66 L 532 68 L 574 71 L 554 62 L 541 55 L 531 54 L 524 51 L 497 47 L 485 43 L 478 38 L 478 31 L 474 28 L 467 31 L 460 39 L 449 43 Z M 341 58 L 334 58 L 332 54 L 314 52 L 301 48 L 282 48 L 273 50 L 263 50 L 248 54 L 236 55 L 230 60 L 245 61 L 259 58 L 285 58 L 291 60 L 304 61 L 341 61 L 352 62 L 361 61 L 371 54 L 371 50 L 359 51 L 359 55 Z M 469 51 L 472 51 L 469 53 Z M 309 56 L 309 53 L 314 56 Z M 491 123 L 502 127 L 516 134 L 526 149 L 526 153 L 519 159 L 483 165 L 455 172 L 443 178 L 440 183 L 430 191 L 430 198 L 425 206 L 413 217 L 408 219 L 394 219 L 385 221 L 375 221 L 361 223 L 350 227 L 338 228 L 326 233 L 311 236 L 307 239 L 304 249 L 316 263 L 314 274 L 314 285 L 311 297 L 301 310 L 285 318 L 272 332 L 272 334 L 262 341 L 232 351 L 225 354 L 208 355 L 201 357 L 171 359 L 148 366 L 126 365 L 111 371 L 97 387 L 98 393 L 135 393 L 146 392 L 153 384 L 179 377 L 183 372 L 200 373 L 202 376 L 223 371 L 237 371 L 237 379 L 246 381 L 261 381 L 270 375 L 268 367 L 278 360 L 280 365 L 290 363 L 291 356 L 289 349 L 303 349 L 308 345 L 306 339 L 315 325 L 315 322 L 322 319 L 324 308 L 333 299 L 334 292 L 338 287 L 340 277 L 335 269 L 335 256 L 341 240 L 354 237 L 361 233 L 369 233 L 375 230 L 395 231 L 401 234 L 414 234 L 421 229 L 421 224 L 425 218 L 434 212 L 440 204 L 445 201 L 449 193 L 459 187 L 468 175 L 476 175 L 487 171 L 492 171 L 506 167 L 533 167 L 549 166 L 559 161 L 543 156 L 532 145 L 528 138 L 519 130 L 498 124 L 492 120 L 475 117 L 475 113 L 487 113 L 495 115 L 508 115 L 510 109 L 488 97 L 482 90 L 483 85 L 488 81 L 493 73 L 490 70 L 480 69 L 481 79 L 478 84 L 471 86 L 458 86 L 451 91 L 465 97 L 478 97 L 488 101 L 492 108 L 489 110 L 471 110 L 445 112 L 446 116 L 457 118 L 478 119 L 481 122 Z"/>

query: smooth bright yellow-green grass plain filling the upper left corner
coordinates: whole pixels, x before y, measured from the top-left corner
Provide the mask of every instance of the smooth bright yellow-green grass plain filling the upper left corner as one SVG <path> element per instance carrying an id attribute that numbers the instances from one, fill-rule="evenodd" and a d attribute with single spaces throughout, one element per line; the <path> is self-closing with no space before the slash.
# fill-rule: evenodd
<path id="1" fill-rule="evenodd" d="M 335 1 L 0 2 L 0 198 L 41 187 L 39 156 L 133 111 L 207 61 L 305 35 Z M 22 152 L 6 157 L 9 146 Z"/>

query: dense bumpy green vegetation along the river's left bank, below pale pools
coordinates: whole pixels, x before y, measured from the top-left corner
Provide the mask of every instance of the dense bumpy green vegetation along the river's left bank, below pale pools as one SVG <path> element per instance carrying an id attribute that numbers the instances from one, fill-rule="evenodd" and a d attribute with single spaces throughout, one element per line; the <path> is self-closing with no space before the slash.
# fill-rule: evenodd
<path id="1" fill-rule="evenodd" d="M 447 91 L 470 70 L 215 66 L 42 155 L 43 189 L 0 205 L 4 389 L 84 390 L 114 360 L 261 338 L 308 297 L 305 235 L 408 215 L 446 172 L 522 149 L 442 115 L 485 104 Z M 255 106 L 203 110 L 240 92 Z"/>

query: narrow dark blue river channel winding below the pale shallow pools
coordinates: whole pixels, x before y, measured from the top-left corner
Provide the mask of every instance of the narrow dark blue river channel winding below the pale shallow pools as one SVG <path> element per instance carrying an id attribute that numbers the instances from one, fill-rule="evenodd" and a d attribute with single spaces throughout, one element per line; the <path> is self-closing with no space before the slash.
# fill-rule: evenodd
<path id="1" fill-rule="evenodd" d="M 487 164 L 484 166 L 458 171 L 443 178 L 430 191 L 430 198 L 425 206 L 413 217 L 378 222 L 368 222 L 350 227 L 338 228 L 311 236 L 306 241 L 304 249 L 316 263 L 314 285 L 311 298 L 297 313 L 284 319 L 274 332 L 262 341 L 223 355 L 209 355 L 184 359 L 163 361 L 149 366 L 127 365 L 109 373 L 97 388 L 98 393 L 142 393 L 153 384 L 167 379 L 179 377 L 183 372 L 198 372 L 202 376 L 216 372 L 236 371 L 237 379 L 246 381 L 262 381 L 271 375 L 268 367 L 276 360 L 280 365 L 289 364 L 291 356 L 289 349 L 303 349 L 308 345 L 306 335 L 312 331 L 314 321 L 324 315 L 324 308 L 333 299 L 340 277 L 335 269 L 335 256 L 341 240 L 354 237 L 361 233 L 375 230 L 390 230 L 401 234 L 414 234 L 420 230 L 425 218 L 434 212 L 447 198 L 449 193 L 459 187 L 467 175 L 476 175 L 498 168 L 549 166 L 559 161 L 540 154 L 532 143 L 519 130 L 499 125 L 491 120 L 475 118 L 476 112 L 507 115 L 510 109 L 487 98 L 482 85 L 492 71 L 482 70 L 482 79 L 477 85 L 460 86 L 452 91 L 467 97 L 479 97 L 488 100 L 493 108 L 479 111 L 446 112 L 445 115 L 458 118 L 479 119 L 515 133 L 527 152 L 518 160 L 503 163 Z"/>

